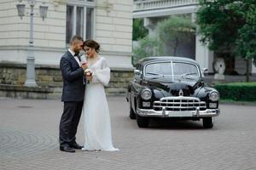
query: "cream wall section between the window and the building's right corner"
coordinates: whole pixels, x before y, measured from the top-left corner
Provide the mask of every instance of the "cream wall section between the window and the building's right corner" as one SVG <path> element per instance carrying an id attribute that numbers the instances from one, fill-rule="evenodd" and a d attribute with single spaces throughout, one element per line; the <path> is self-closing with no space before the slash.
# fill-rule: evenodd
<path id="1" fill-rule="evenodd" d="M 96 1 L 96 41 L 111 67 L 131 68 L 132 1 Z M 105 7 L 104 7 L 105 6 Z"/>

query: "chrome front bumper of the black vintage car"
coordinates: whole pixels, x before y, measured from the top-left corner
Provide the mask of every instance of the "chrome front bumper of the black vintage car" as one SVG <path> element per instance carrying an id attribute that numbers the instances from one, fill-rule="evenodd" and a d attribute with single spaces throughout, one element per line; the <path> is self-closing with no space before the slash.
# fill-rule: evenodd
<path id="1" fill-rule="evenodd" d="M 219 109 L 207 109 L 206 111 L 200 111 L 199 108 L 196 108 L 195 111 L 166 111 L 165 108 L 163 108 L 162 111 L 137 109 L 137 114 L 139 116 L 152 117 L 212 117 L 218 116 L 219 113 Z"/>

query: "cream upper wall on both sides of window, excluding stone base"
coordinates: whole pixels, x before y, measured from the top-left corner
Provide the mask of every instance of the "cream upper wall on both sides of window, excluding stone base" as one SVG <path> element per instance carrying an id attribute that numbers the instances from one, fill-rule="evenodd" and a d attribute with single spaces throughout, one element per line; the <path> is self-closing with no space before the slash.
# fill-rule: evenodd
<path id="1" fill-rule="evenodd" d="M 47 18 L 39 16 L 45 3 Z M 108 3 L 106 3 L 108 2 Z M 17 15 L 17 0 L 0 2 L 0 62 L 26 63 L 30 16 Z M 26 3 L 26 13 L 30 7 Z M 34 10 L 35 63 L 59 65 L 66 45 L 66 0 L 38 0 Z M 116 68 L 131 68 L 132 1 L 96 0 L 94 37 L 102 45 L 102 55 Z"/>

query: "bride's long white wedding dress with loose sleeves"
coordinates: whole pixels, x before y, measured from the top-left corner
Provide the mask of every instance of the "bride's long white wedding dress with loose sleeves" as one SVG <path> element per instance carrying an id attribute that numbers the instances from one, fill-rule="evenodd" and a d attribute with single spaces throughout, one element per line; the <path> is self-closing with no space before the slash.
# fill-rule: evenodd
<path id="1" fill-rule="evenodd" d="M 84 148 L 82 150 L 119 150 L 113 147 L 108 102 L 104 86 L 108 85 L 110 69 L 100 57 L 89 69 L 92 81 L 86 83 L 84 94 Z"/>

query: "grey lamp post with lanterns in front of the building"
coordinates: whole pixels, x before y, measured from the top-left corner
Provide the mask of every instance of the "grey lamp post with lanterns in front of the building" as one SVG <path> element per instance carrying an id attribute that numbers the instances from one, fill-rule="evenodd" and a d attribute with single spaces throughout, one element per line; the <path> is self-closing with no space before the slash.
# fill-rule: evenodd
<path id="1" fill-rule="evenodd" d="M 37 82 L 35 81 L 35 54 L 34 54 L 34 38 L 33 38 L 33 16 L 34 16 L 34 6 L 35 0 L 27 0 L 30 5 L 30 30 L 29 30 L 29 45 L 27 48 L 27 56 L 26 56 L 26 82 L 25 86 L 27 87 L 36 87 Z M 16 5 L 18 9 L 18 15 L 20 16 L 20 20 L 25 15 L 25 7 L 26 5 L 22 3 L 22 0 L 19 0 L 19 3 Z M 40 17 L 44 20 L 47 17 L 48 7 L 45 5 L 41 5 L 40 9 Z"/>

